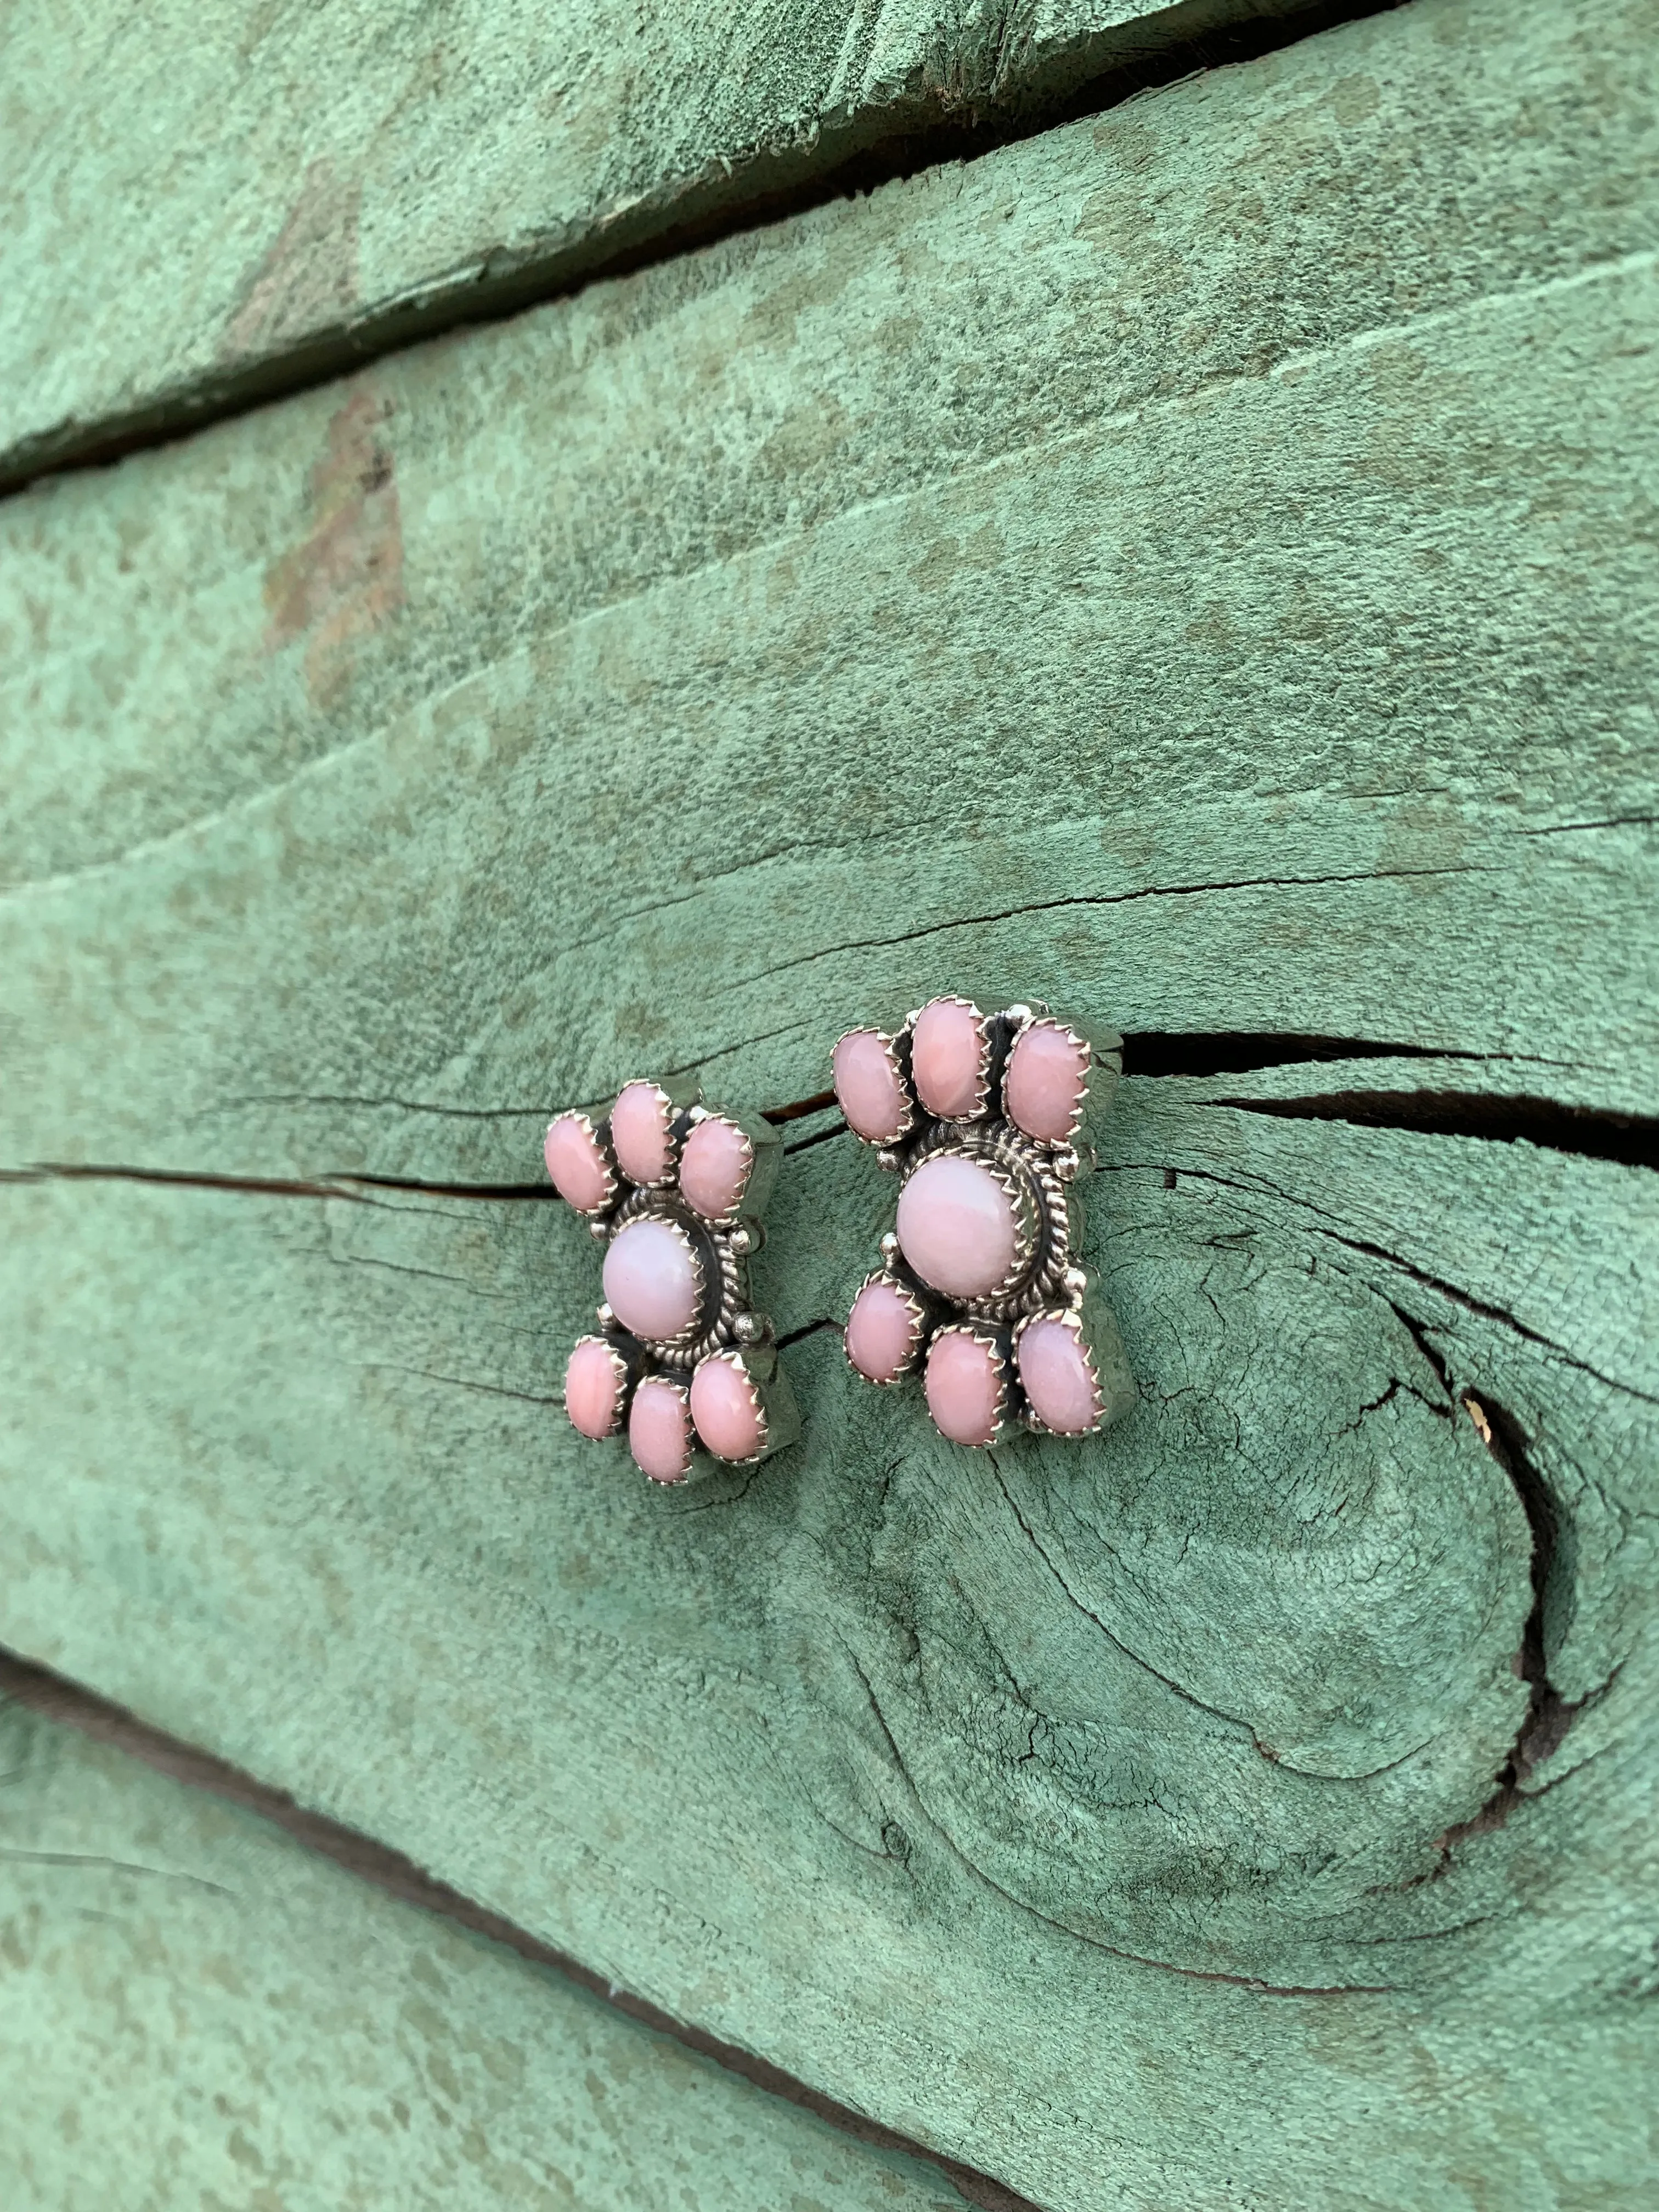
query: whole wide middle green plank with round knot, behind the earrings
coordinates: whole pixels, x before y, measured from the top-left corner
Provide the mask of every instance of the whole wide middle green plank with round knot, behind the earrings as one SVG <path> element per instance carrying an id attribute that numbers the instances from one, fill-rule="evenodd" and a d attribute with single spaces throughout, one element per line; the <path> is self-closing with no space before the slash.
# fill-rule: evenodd
<path id="1" fill-rule="evenodd" d="M 1644 2203 L 1652 27 L 1418 0 L 11 502 L 0 1639 L 1068 2212 Z M 805 1447 L 577 1451 L 546 1108 L 940 987 L 1210 1040 L 1141 1407 L 856 1387 L 807 1117 Z"/>

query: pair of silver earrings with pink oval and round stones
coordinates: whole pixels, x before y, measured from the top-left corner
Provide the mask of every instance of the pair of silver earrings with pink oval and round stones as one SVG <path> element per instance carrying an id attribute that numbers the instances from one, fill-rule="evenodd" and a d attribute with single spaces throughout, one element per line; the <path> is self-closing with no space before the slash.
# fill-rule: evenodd
<path id="1" fill-rule="evenodd" d="M 920 1374 L 951 1442 L 993 1444 L 1011 1420 L 1088 1436 L 1133 1398 L 1117 1325 L 1073 1261 L 1086 1117 L 1117 1051 L 1044 1006 L 982 1015 L 964 998 L 836 1042 L 847 1126 L 900 1179 L 845 1352 L 867 1383 Z M 549 1126 L 553 1188 L 606 1248 L 599 1334 L 571 1352 L 564 1409 L 582 1436 L 626 1429 L 653 1482 L 684 1482 L 697 1444 L 748 1467 L 801 1433 L 748 1285 L 781 1150 L 763 1119 L 653 1082 L 624 1084 L 597 1124 Z"/>

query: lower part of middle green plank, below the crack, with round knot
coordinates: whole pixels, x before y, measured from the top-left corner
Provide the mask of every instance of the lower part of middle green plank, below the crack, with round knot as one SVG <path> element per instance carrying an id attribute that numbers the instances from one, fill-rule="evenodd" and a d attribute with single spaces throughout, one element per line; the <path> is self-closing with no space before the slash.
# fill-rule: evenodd
<path id="1" fill-rule="evenodd" d="M 1206 1088 L 1097 1179 L 1115 1438 L 964 1460 L 810 1336 L 807 1451 L 686 1500 L 568 1449 L 555 1208 L 13 1190 L 7 1632 L 1040 2201 L 1635 2208 L 1652 1338 L 1482 1307 L 1504 1230 L 1650 1252 L 1652 1177 Z M 792 1166 L 801 1325 L 878 1199 Z M 1559 1524 L 1553 1756 L 1467 1394 Z"/>

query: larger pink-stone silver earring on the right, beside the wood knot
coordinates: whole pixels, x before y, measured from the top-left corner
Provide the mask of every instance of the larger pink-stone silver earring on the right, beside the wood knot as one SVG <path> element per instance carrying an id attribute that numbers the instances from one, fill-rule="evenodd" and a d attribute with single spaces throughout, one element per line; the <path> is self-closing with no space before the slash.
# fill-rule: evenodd
<path id="1" fill-rule="evenodd" d="M 847 1358 L 867 1383 L 920 1369 L 956 1444 L 993 1444 L 1009 1420 L 1088 1436 L 1135 1400 L 1117 1321 L 1071 1256 L 1084 1121 L 1119 1066 L 1121 1037 L 1091 1046 L 1046 1006 L 984 1015 L 964 998 L 834 1048 L 847 1126 L 900 1177 Z"/>

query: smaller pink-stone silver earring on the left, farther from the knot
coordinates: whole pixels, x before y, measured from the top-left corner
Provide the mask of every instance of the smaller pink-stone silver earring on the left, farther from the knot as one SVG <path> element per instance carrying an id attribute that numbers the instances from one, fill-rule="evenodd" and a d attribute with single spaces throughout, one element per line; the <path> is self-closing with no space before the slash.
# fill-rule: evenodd
<path id="1" fill-rule="evenodd" d="M 549 1124 L 546 1172 L 604 1243 L 599 1334 L 577 1338 L 564 1411 L 591 1438 L 628 1433 L 653 1482 L 692 1449 L 748 1467 L 801 1433 L 748 1261 L 781 1144 L 765 1121 L 710 1113 L 697 1091 L 624 1084 L 608 1119 Z"/>

